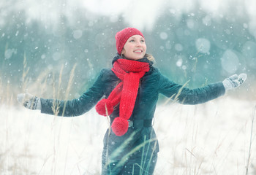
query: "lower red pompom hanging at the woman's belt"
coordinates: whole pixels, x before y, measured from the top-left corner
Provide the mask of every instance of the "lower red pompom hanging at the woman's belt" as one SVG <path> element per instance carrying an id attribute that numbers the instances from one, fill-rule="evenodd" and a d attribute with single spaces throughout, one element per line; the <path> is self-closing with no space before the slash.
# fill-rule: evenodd
<path id="1" fill-rule="evenodd" d="M 125 120 L 123 117 L 116 117 L 111 125 L 112 131 L 116 136 L 123 136 L 124 133 L 127 133 L 128 127 L 128 120 Z"/>

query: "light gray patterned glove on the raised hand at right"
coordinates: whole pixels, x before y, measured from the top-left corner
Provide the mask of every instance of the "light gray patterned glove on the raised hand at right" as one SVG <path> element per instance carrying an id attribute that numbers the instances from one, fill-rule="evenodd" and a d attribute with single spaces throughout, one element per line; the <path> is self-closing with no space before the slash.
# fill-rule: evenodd
<path id="1" fill-rule="evenodd" d="M 244 83 L 244 81 L 246 80 L 247 75 L 246 74 L 234 74 L 226 79 L 224 79 L 224 81 L 222 82 L 225 90 L 230 90 L 233 88 L 237 88 L 240 85 L 242 85 Z"/>

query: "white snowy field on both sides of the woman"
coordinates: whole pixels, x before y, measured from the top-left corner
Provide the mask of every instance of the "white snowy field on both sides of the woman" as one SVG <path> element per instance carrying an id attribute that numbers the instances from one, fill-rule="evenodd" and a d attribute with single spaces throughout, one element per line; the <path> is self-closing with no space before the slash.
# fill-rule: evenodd
<path id="1" fill-rule="evenodd" d="M 159 104 L 155 174 L 246 174 L 249 160 L 255 175 L 255 105 L 228 96 L 196 106 Z M 100 174 L 107 128 L 95 109 L 68 118 L 1 106 L 0 174 Z"/>

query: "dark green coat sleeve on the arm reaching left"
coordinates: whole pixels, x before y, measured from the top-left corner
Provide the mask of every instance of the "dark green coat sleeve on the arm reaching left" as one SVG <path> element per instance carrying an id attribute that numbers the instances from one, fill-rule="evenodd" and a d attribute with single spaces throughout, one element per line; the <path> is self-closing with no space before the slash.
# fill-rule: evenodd
<path id="1" fill-rule="evenodd" d="M 94 85 L 77 99 L 61 101 L 41 98 L 41 112 L 64 117 L 74 117 L 88 112 L 104 94 L 104 71 L 102 69 Z"/>

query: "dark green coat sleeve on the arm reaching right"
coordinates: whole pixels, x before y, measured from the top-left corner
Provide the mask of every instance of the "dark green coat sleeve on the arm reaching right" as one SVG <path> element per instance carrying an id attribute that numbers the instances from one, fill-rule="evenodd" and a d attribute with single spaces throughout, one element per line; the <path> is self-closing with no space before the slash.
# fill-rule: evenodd
<path id="1" fill-rule="evenodd" d="M 159 76 L 159 93 L 178 101 L 181 104 L 202 104 L 225 94 L 222 82 L 206 85 L 203 88 L 189 89 L 170 81 L 167 77 Z"/>

